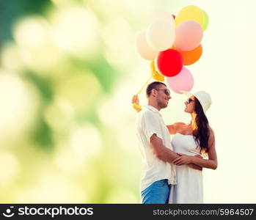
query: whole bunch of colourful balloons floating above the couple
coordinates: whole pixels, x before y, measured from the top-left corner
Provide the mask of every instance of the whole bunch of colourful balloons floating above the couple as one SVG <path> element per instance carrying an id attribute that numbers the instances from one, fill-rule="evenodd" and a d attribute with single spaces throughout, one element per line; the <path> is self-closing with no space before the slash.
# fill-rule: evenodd
<path id="1" fill-rule="evenodd" d="M 190 92 L 194 77 L 184 66 L 194 64 L 202 55 L 201 41 L 208 15 L 199 7 L 189 5 L 177 16 L 155 12 L 150 23 L 146 31 L 139 33 L 136 49 L 142 58 L 151 61 L 151 77 L 156 81 L 166 80 L 176 93 Z"/>

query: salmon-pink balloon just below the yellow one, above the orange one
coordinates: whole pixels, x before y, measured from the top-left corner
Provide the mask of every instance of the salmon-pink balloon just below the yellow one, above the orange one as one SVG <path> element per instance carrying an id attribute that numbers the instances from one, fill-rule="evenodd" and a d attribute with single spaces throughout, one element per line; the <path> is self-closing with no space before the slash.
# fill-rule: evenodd
<path id="1" fill-rule="evenodd" d="M 202 26 L 196 21 L 184 21 L 175 30 L 175 48 L 180 51 L 191 51 L 200 45 Z"/>

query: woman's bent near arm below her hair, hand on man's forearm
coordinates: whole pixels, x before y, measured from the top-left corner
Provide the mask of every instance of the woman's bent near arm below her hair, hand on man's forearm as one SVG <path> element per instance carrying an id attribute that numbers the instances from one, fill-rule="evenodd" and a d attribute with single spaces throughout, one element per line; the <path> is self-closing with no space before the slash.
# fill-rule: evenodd
<path id="1" fill-rule="evenodd" d="M 176 158 L 172 161 L 176 165 L 185 165 L 185 164 L 197 164 L 198 166 L 202 166 L 209 169 L 216 169 L 218 166 L 217 154 L 215 150 L 215 138 L 214 133 L 210 129 L 210 136 L 208 140 L 208 159 L 197 158 L 195 156 L 190 155 L 181 155 L 179 158 Z"/>

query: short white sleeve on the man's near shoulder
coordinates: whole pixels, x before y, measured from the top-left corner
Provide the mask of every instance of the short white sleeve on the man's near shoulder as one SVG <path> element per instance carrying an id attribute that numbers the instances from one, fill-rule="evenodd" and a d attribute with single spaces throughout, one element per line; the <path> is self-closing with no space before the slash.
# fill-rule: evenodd
<path id="1" fill-rule="evenodd" d="M 146 111 L 142 116 L 142 124 L 142 128 L 148 142 L 150 142 L 150 137 L 153 136 L 154 133 L 156 133 L 156 136 L 158 136 L 158 138 L 163 139 L 161 125 L 156 113 Z"/>

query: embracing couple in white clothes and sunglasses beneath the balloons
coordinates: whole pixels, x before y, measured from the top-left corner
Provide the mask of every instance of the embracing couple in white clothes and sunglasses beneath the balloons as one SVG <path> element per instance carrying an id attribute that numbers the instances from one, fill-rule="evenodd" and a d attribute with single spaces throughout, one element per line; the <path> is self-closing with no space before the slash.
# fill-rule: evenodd
<path id="1" fill-rule="evenodd" d="M 191 114 L 191 122 L 165 125 L 160 110 L 168 106 L 169 89 L 154 81 L 146 95 L 147 106 L 136 109 L 142 203 L 202 203 L 202 168 L 218 166 L 214 133 L 205 116 L 211 96 L 204 91 L 190 94 L 184 111 Z M 134 95 L 132 103 L 139 104 L 138 96 Z"/>

